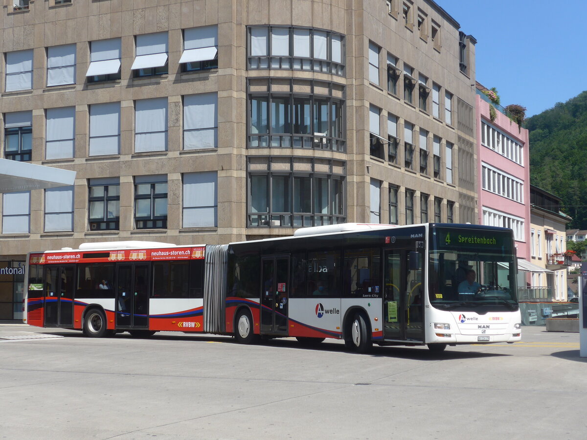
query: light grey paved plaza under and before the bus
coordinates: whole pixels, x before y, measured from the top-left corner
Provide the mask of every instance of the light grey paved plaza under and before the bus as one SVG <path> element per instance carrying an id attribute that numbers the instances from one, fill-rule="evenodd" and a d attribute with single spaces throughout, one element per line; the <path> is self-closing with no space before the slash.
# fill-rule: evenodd
<path id="1" fill-rule="evenodd" d="M 578 333 L 375 347 L 0 325 L 2 439 L 583 439 Z"/>

